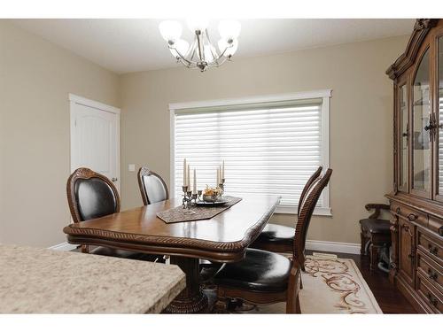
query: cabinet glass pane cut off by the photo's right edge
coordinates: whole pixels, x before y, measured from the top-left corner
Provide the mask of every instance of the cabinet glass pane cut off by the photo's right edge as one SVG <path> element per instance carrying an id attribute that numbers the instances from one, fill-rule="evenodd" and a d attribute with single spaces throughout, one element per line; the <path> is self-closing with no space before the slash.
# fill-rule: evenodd
<path id="1" fill-rule="evenodd" d="M 437 109 L 438 111 L 438 122 L 439 125 L 439 152 L 438 152 L 438 163 L 439 163 L 439 174 L 438 174 L 438 194 L 443 194 L 443 36 L 439 37 L 438 40 L 438 57 L 437 57 L 437 66 L 439 67 L 437 71 L 438 77 L 438 99 L 437 99 Z M 441 127 L 440 127 L 441 126 Z"/>

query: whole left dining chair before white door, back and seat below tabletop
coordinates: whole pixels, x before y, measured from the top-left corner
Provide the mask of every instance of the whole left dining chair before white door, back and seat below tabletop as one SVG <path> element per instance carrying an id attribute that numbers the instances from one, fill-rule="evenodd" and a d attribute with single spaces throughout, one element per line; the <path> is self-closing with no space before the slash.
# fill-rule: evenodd
<path id="1" fill-rule="evenodd" d="M 66 184 L 66 194 L 74 222 L 120 212 L 119 192 L 113 182 L 105 175 L 98 174 L 89 168 L 78 168 L 69 176 Z M 89 245 L 82 245 L 82 252 L 122 259 L 156 259 L 154 255 L 102 246 L 89 251 Z"/>

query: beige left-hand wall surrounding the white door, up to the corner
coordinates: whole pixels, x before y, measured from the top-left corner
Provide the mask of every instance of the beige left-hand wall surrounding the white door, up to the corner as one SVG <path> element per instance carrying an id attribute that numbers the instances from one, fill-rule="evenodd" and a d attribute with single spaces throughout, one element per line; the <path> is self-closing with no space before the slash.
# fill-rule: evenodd
<path id="1" fill-rule="evenodd" d="M 0 20 L 0 243 L 66 241 L 68 93 L 119 106 L 119 77 Z"/>

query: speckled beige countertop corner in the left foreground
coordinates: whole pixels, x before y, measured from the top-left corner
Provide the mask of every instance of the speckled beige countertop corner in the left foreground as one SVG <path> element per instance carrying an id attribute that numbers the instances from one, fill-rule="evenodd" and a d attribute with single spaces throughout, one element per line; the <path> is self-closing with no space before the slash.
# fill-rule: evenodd
<path id="1" fill-rule="evenodd" d="M 185 281 L 174 265 L 0 244 L 0 313 L 160 313 Z"/>

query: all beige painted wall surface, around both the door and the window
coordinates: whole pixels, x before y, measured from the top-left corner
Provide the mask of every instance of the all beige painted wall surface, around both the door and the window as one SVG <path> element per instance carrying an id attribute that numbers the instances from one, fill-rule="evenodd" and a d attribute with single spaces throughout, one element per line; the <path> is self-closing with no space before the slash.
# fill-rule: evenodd
<path id="1" fill-rule="evenodd" d="M 392 81 L 385 69 L 408 38 L 356 42 L 241 59 L 206 73 L 183 67 L 118 75 L 0 20 L 0 243 L 50 246 L 69 222 L 68 93 L 122 108 L 122 207 L 141 205 L 136 173 L 147 165 L 169 183 L 167 104 L 333 89 L 330 196 L 309 238 L 358 243 L 363 205 L 392 182 Z M 171 61 L 173 59 L 171 58 Z M 293 225 L 292 215 L 275 222 Z"/>

